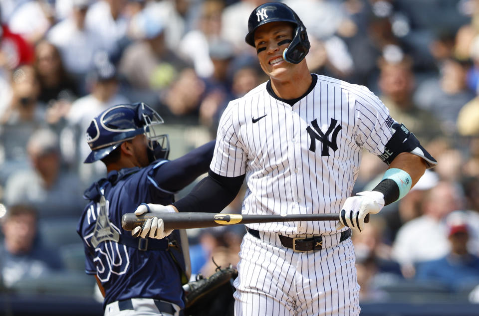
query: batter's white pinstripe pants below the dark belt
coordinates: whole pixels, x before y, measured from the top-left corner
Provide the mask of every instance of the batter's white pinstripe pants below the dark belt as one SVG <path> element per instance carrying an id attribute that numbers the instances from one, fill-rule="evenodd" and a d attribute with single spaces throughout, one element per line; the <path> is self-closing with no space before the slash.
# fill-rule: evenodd
<path id="1" fill-rule="evenodd" d="M 276 234 L 260 237 L 246 233 L 241 243 L 236 316 L 359 315 L 351 238 L 326 236 L 320 251 L 293 252 Z"/>

